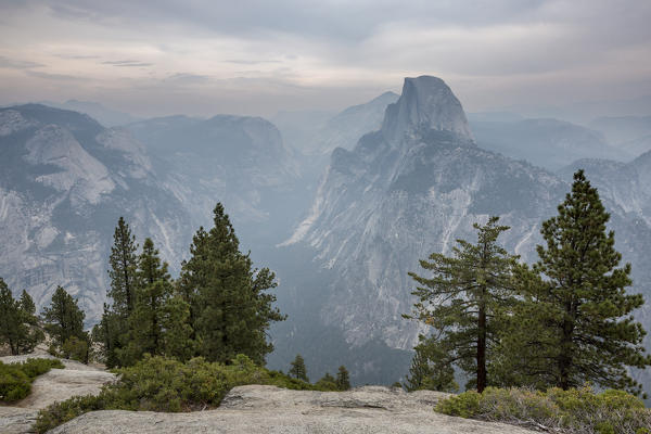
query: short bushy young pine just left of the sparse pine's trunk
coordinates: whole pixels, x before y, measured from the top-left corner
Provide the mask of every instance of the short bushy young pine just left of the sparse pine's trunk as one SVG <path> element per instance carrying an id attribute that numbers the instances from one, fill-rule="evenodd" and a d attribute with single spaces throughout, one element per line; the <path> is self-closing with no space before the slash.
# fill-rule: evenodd
<path id="1" fill-rule="evenodd" d="M 447 352 L 435 342 L 434 336 L 420 335 L 419 340 L 420 343 L 413 348 L 416 353 L 405 388 L 408 392 L 422 390 L 457 392 L 459 385 L 455 382 L 455 370 L 448 360 Z"/>

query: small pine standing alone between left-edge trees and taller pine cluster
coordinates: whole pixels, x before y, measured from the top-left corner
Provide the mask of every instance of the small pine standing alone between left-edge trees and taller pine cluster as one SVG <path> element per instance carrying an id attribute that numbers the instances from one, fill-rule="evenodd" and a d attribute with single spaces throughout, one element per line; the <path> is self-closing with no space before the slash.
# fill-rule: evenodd
<path id="1" fill-rule="evenodd" d="M 79 309 L 77 301 L 61 286 L 54 291 L 50 306 L 43 309 L 46 330 L 52 336 L 54 345 L 62 350 L 74 341 L 86 343 L 86 352 L 80 361 L 88 362 L 89 337 L 84 331 L 85 317 L 86 314 Z M 66 356 L 69 357 L 64 354 L 64 357 Z"/>

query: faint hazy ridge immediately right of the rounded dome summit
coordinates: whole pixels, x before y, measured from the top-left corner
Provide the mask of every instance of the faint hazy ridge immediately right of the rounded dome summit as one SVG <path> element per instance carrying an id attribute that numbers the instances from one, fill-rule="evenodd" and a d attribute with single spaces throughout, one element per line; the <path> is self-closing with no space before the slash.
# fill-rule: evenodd
<path id="1" fill-rule="evenodd" d="M 636 155 L 611 146 L 595 130 L 558 119 L 471 122 L 477 145 L 558 170 L 580 158 L 629 161 Z"/>

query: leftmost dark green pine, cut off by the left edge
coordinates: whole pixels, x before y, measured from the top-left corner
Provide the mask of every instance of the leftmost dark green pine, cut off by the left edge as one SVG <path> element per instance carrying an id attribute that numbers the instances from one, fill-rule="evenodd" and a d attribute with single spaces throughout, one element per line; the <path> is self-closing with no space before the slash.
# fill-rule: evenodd
<path id="1" fill-rule="evenodd" d="M 0 344 L 7 344 L 12 355 L 30 353 L 44 334 L 37 327 L 34 301 L 23 291 L 20 301 L 0 278 Z"/>

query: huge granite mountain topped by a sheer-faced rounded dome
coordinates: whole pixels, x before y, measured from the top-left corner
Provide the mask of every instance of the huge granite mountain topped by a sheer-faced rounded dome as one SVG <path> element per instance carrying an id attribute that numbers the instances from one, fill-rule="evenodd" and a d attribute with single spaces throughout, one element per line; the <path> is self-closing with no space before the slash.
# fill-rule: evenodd
<path id="1" fill-rule="evenodd" d="M 534 133 L 559 127 L 575 130 L 538 120 L 519 128 Z M 634 264 L 635 290 L 651 301 L 651 209 L 646 199 L 651 186 L 646 174 L 651 170 L 644 171 L 640 159 L 630 166 L 605 165 L 598 186 L 627 180 L 612 194 L 603 187 L 603 196 L 617 248 Z M 322 360 L 331 360 L 332 348 L 337 348 L 347 355 L 358 381 L 395 381 L 407 371 L 408 352 L 423 330 L 400 317 L 414 302 L 407 272 L 421 271 L 419 259 L 432 252 L 449 253 L 456 239 L 472 240 L 472 225 L 492 215 L 511 227 L 500 240 L 505 246 L 523 260 L 536 260 L 540 224 L 556 214 L 570 190 L 567 176 L 477 146 L 460 102 L 445 82 L 426 76 L 405 79 L 382 127 L 352 151 L 334 150 L 311 213 L 284 244 L 284 254 L 294 255 L 294 269 L 318 275 L 307 282 L 291 270 L 283 272 L 284 285 L 291 288 L 291 299 L 283 299 L 290 319 L 276 329 L 277 346 L 290 358 L 301 352 L 308 366 L 321 371 L 331 369 Z M 648 306 L 638 318 L 651 330 Z M 330 341 L 309 346 L 322 342 L 318 331 L 323 328 Z M 289 360 L 277 354 L 272 362 L 283 366 Z"/>

